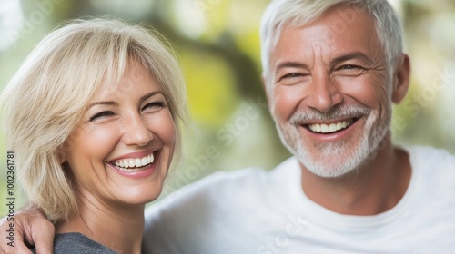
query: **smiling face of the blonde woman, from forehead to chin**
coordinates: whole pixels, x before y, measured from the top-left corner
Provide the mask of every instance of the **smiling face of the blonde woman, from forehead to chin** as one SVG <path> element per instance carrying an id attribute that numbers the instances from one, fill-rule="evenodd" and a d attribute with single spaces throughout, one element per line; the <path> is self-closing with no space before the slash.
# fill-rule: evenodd
<path id="1" fill-rule="evenodd" d="M 103 84 L 66 140 L 62 161 L 78 198 L 105 204 L 157 199 L 172 160 L 176 126 L 157 80 L 136 61 L 115 89 Z"/>

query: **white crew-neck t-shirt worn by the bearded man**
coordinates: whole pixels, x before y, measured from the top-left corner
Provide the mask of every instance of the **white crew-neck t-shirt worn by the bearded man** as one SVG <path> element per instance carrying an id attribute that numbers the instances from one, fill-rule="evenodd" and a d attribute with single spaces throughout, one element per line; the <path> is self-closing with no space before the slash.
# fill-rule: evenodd
<path id="1" fill-rule="evenodd" d="M 455 253 L 455 157 L 406 149 L 410 185 L 374 216 L 342 215 L 309 200 L 295 158 L 270 172 L 219 172 L 146 212 L 147 253 Z"/>

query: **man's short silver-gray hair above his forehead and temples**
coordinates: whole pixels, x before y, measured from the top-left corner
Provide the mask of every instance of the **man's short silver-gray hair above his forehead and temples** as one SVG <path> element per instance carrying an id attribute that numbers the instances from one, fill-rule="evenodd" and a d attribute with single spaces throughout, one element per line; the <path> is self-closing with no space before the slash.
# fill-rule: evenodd
<path id="1" fill-rule="evenodd" d="M 266 77 L 269 72 L 270 50 L 278 43 L 279 34 L 284 26 L 289 24 L 298 27 L 308 24 L 334 5 L 358 6 L 373 16 L 391 75 L 399 55 L 403 52 L 403 42 L 399 18 L 387 0 L 273 0 L 266 8 L 260 23 L 261 61 Z M 352 12 L 352 15 L 357 14 L 355 11 Z M 347 25 L 343 20 L 353 17 L 340 16 L 339 21 L 334 21 L 344 22 L 340 24 L 340 32 L 343 31 L 343 25 Z"/>

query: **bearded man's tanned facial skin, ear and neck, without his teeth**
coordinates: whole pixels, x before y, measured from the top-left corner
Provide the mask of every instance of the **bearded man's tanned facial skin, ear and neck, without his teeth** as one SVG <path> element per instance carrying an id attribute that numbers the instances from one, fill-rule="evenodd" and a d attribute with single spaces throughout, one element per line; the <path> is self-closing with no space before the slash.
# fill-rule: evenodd
<path id="1" fill-rule="evenodd" d="M 389 133 L 391 104 L 408 90 L 410 61 L 403 54 L 389 76 L 373 18 L 349 8 L 286 25 L 270 53 L 265 86 L 308 198 L 340 213 L 372 215 L 392 208 L 410 181 L 408 155 L 392 147 Z M 356 25 L 340 33 L 333 21 L 345 12 L 357 14 Z M 340 132 L 308 129 L 343 121 L 352 124 Z"/>

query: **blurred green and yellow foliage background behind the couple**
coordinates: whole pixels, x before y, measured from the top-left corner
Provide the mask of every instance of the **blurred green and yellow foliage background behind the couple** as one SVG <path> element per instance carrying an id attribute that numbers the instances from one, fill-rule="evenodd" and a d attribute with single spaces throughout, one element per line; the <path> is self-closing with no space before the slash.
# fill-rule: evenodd
<path id="1" fill-rule="evenodd" d="M 61 21 L 116 15 L 153 25 L 173 44 L 187 81 L 195 135 L 161 197 L 214 171 L 272 169 L 289 156 L 260 82 L 258 24 L 269 0 L 0 0 L 0 88 Z M 455 1 L 390 0 L 403 20 L 412 80 L 395 108 L 399 144 L 455 152 Z M 26 110 L 26 109 L 24 109 Z M 5 136 L 0 133 L 0 200 L 6 203 Z M 24 203 L 17 192 L 16 209 Z M 0 215 L 5 215 L 5 205 Z"/>

